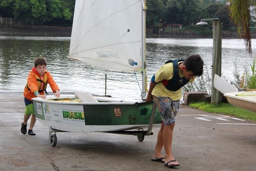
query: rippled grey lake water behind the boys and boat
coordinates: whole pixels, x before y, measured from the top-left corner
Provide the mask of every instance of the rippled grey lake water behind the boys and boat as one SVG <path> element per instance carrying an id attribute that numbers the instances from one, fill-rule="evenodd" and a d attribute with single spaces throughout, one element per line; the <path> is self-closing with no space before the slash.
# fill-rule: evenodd
<path id="1" fill-rule="evenodd" d="M 34 59 L 46 57 L 47 70 L 52 74 L 60 92 L 84 91 L 121 98 L 140 98 L 141 74 L 108 71 L 79 61 L 68 60 L 70 37 L 0 36 L 0 92 L 22 93 Z M 252 39 L 252 45 L 256 39 Z M 169 59 L 200 54 L 211 74 L 213 39 L 146 39 L 148 83 L 158 68 Z M 252 64 L 239 39 L 222 39 L 222 74 L 233 79 L 236 68 L 240 75 L 244 66 Z M 138 85 L 138 82 L 140 87 Z M 51 92 L 49 86 L 48 92 Z"/>

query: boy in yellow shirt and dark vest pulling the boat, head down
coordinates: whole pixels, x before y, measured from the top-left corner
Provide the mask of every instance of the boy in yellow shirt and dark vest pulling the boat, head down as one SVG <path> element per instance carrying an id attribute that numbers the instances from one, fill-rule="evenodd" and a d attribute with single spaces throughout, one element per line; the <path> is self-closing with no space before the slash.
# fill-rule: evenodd
<path id="1" fill-rule="evenodd" d="M 181 87 L 193 82 L 203 73 L 203 60 L 200 55 L 184 59 L 169 60 L 152 77 L 146 101 L 154 99 L 161 115 L 161 128 L 151 160 L 165 163 L 167 167 L 180 166 L 172 156 L 172 133 L 175 116 L 181 99 Z M 165 157 L 161 154 L 165 149 Z"/>

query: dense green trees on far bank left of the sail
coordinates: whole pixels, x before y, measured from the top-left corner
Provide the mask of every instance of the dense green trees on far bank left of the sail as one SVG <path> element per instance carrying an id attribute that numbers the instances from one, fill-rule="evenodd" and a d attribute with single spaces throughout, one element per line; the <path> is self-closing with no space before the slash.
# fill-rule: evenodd
<path id="1" fill-rule="evenodd" d="M 55 18 L 71 21 L 75 0 L 0 0 L 0 15 L 42 25 Z"/>

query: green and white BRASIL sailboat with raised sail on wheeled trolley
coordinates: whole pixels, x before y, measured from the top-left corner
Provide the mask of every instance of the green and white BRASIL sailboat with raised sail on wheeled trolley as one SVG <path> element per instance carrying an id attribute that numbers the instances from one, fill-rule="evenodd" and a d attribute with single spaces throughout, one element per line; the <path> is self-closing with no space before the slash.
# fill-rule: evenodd
<path id="1" fill-rule="evenodd" d="M 131 134 L 140 141 L 153 134 L 152 127 L 159 125 L 160 114 L 153 102 L 143 100 L 144 0 L 76 0 L 69 59 L 107 70 L 142 71 L 142 99 L 118 99 L 88 92 L 33 98 L 34 114 L 49 127 L 52 146 L 57 144 L 56 132 L 60 131 Z"/>

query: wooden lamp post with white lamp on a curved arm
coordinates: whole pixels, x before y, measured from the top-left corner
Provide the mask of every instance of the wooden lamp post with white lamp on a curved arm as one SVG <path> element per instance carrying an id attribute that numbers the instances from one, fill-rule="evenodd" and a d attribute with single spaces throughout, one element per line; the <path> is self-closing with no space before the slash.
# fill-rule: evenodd
<path id="1" fill-rule="evenodd" d="M 212 54 L 212 95 L 211 103 L 217 105 L 220 101 L 220 92 L 213 86 L 214 75 L 221 76 L 221 64 L 222 64 L 222 22 L 219 18 L 202 19 L 201 22 L 196 25 L 206 25 L 206 20 L 213 20 L 213 54 Z"/>

